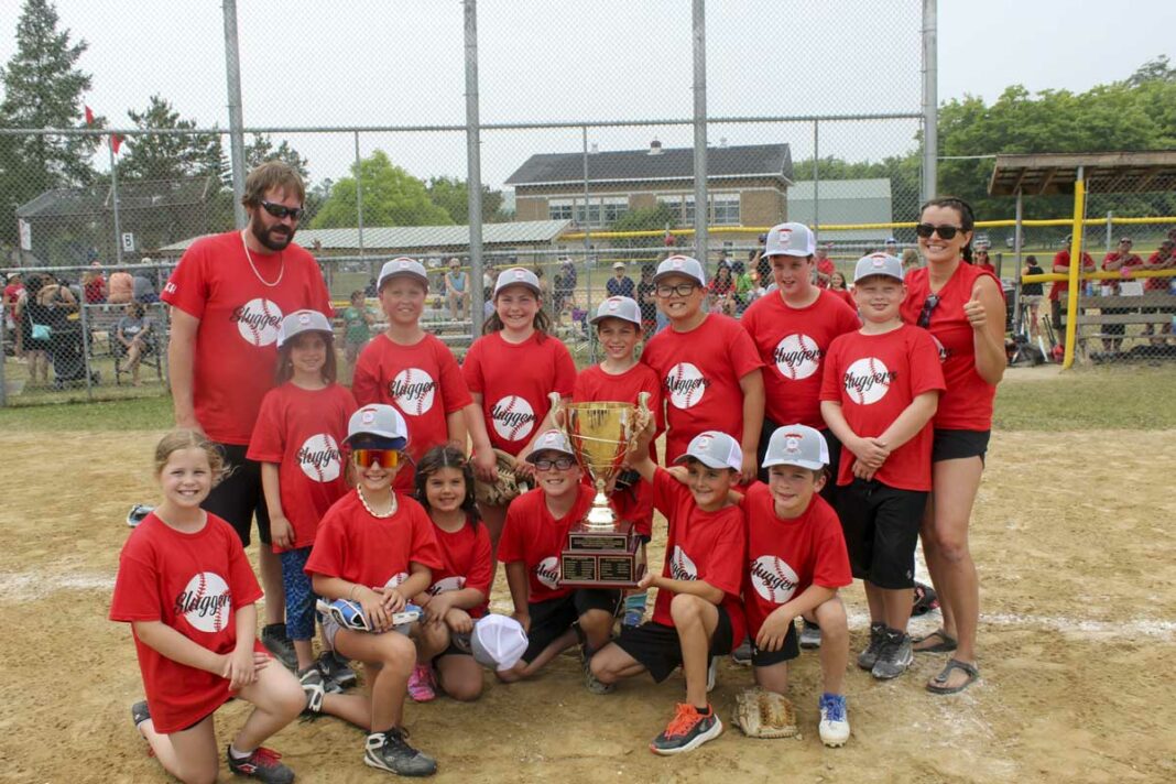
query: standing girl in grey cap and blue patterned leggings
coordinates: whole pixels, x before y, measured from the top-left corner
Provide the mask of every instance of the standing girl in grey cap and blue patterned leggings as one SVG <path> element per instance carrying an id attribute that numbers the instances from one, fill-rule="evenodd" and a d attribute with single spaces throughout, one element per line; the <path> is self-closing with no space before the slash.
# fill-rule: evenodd
<path id="1" fill-rule="evenodd" d="M 347 491 L 339 444 L 355 400 L 335 383 L 335 336 L 318 310 L 295 310 L 278 334 L 276 387 L 266 393 L 249 441 L 248 460 L 261 463 L 269 534 L 282 564 L 286 636 L 294 643 L 303 686 L 355 683 L 345 661 L 325 646 L 318 662 L 315 601 L 303 571 L 319 521 Z"/>

